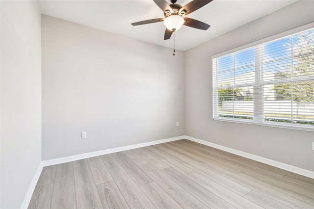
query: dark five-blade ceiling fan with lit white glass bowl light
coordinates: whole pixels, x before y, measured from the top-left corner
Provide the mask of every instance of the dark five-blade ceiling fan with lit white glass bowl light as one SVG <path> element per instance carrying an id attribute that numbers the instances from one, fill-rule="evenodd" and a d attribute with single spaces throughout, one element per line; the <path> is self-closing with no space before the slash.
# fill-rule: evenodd
<path id="1" fill-rule="evenodd" d="M 176 4 L 177 0 L 171 0 L 172 4 L 168 4 L 166 0 L 154 0 L 154 2 L 163 11 L 165 18 L 156 18 L 132 23 L 132 26 L 145 25 L 150 23 L 163 22 L 166 26 L 164 40 L 170 39 L 172 33 L 178 30 L 182 25 L 194 27 L 197 29 L 207 30 L 209 25 L 206 23 L 185 17 L 195 10 L 205 6 L 212 0 L 192 0 L 184 6 Z"/>

